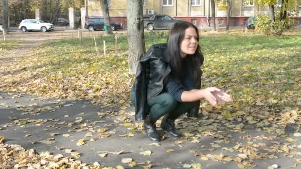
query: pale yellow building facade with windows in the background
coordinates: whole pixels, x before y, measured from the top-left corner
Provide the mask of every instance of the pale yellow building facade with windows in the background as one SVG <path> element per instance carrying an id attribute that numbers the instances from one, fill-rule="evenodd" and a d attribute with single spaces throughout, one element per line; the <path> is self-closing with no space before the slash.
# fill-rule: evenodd
<path id="1" fill-rule="evenodd" d="M 126 27 L 127 0 L 107 0 L 112 21 Z M 211 25 L 210 0 L 142 0 L 143 15 L 166 14 L 175 19 L 194 23 L 199 29 Z M 279 0 L 280 1 L 280 0 Z M 88 0 L 88 16 L 102 16 L 99 0 Z M 277 10 L 277 7 L 276 7 Z M 297 19 L 301 18 L 301 6 L 296 8 Z M 268 14 L 267 6 L 256 6 L 254 0 L 231 0 L 230 26 L 244 27 L 249 17 Z M 215 9 L 216 25 L 226 26 L 226 0 L 218 0 Z"/>

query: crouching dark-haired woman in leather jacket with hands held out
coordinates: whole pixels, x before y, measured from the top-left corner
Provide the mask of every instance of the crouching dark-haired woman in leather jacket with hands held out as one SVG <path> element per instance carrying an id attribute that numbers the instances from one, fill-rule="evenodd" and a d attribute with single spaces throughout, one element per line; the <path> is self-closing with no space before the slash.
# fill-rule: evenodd
<path id="1" fill-rule="evenodd" d="M 154 142 L 160 141 L 156 121 L 162 116 L 162 130 L 180 138 L 175 120 L 186 112 L 196 117 L 201 99 L 213 106 L 232 101 L 218 88 L 200 89 L 204 57 L 198 42 L 196 26 L 176 23 L 167 44 L 151 46 L 139 62 L 131 102 L 135 106 L 135 119 L 144 120 L 146 135 Z"/>

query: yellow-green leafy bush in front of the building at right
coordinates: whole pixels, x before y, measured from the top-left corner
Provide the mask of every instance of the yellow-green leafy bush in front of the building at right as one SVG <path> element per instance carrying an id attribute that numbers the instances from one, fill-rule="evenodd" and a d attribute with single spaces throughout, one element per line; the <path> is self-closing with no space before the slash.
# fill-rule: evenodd
<path id="1" fill-rule="evenodd" d="M 254 24 L 265 35 L 281 35 L 286 29 L 290 28 L 288 20 L 279 21 L 276 17 L 276 21 L 274 22 L 269 19 L 268 15 L 258 15 Z"/>

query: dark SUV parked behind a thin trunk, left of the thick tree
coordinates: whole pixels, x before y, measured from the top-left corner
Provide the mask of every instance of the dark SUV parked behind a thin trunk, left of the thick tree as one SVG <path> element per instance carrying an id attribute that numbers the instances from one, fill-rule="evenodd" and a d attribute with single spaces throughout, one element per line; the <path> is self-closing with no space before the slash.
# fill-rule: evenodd
<path id="1" fill-rule="evenodd" d="M 91 17 L 85 20 L 85 28 L 89 31 L 95 31 L 98 29 L 104 29 L 104 20 L 102 17 Z M 112 31 L 122 29 L 119 23 L 111 22 Z"/>

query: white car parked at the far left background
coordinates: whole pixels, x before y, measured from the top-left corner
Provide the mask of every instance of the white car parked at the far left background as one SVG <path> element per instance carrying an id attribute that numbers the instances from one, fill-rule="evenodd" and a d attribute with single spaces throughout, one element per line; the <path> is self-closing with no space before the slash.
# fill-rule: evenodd
<path id="1" fill-rule="evenodd" d="M 46 23 L 44 21 L 37 20 L 37 19 L 24 19 L 20 23 L 19 29 L 22 32 L 26 32 L 26 31 L 42 31 L 42 32 L 46 32 L 46 31 L 53 30 L 54 26 L 53 26 L 53 24 Z"/>

